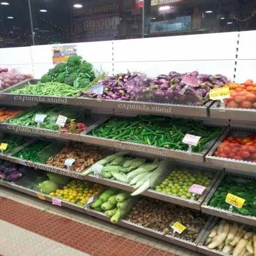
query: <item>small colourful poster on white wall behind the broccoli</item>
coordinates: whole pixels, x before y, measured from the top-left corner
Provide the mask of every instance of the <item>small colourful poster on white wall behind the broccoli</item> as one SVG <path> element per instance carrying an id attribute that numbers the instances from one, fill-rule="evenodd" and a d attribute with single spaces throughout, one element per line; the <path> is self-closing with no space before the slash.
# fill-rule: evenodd
<path id="1" fill-rule="evenodd" d="M 52 62 L 58 64 L 60 62 L 66 62 L 70 56 L 77 54 L 76 44 L 52 46 Z"/>

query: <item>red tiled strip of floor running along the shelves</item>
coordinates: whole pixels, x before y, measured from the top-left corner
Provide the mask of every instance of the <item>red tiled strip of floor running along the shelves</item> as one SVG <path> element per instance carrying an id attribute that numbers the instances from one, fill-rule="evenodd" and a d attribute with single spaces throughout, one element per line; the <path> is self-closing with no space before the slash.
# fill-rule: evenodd
<path id="1" fill-rule="evenodd" d="M 90 255 L 177 256 L 0 196 L 0 219 Z M 140 235 L 138 233 L 138 235 Z M 1 255 L 0 255 L 1 256 Z"/>

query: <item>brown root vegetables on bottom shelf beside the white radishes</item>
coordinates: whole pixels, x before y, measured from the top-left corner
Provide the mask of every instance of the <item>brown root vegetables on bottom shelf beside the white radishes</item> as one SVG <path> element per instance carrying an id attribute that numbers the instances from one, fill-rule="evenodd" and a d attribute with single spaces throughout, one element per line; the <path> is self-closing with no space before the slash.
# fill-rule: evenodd
<path id="1" fill-rule="evenodd" d="M 199 211 L 180 207 L 179 205 L 143 198 L 133 206 L 127 221 L 140 224 L 143 227 L 178 236 L 185 240 L 195 241 L 207 221 L 207 216 Z M 187 227 L 182 233 L 173 232 L 171 226 L 180 222 Z"/>

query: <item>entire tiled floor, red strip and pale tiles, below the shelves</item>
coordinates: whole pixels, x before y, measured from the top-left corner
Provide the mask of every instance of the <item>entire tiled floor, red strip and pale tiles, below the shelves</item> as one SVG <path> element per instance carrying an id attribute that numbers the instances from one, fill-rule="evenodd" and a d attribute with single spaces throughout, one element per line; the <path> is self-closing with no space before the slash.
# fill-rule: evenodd
<path id="1" fill-rule="evenodd" d="M 0 219 L 4 256 L 200 255 L 3 187 Z M 22 251 L 17 254 L 18 247 Z"/>

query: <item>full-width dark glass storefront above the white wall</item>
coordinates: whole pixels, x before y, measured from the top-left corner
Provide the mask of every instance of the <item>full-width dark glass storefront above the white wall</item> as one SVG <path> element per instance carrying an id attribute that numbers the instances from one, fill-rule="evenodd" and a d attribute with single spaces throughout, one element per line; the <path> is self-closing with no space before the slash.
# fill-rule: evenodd
<path id="1" fill-rule="evenodd" d="M 256 29 L 255 0 L 0 0 L 0 47 Z"/>

